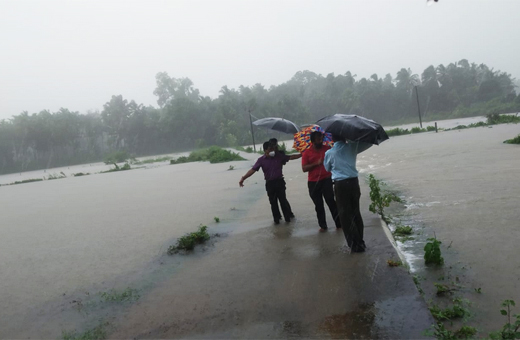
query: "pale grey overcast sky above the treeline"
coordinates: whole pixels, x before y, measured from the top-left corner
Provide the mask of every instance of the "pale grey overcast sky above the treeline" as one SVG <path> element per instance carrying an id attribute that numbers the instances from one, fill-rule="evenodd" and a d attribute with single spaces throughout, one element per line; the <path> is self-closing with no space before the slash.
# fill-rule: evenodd
<path id="1" fill-rule="evenodd" d="M 212 98 L 301 70 L 395 77 L 460 59 L 520 78 L 519 13 L 519 0 L 0 0 L 0 119 L 119 94 L 157 106 L 161 71 Z"/>

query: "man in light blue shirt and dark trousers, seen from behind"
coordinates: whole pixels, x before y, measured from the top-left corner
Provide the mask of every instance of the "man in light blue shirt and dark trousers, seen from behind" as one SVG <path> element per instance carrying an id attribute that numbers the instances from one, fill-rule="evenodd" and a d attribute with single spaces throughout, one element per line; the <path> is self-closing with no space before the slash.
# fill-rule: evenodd
<path id="1" fill-rule="evenodd" d="M 338 207 L 339 219 L 347 246 L 351 252 L 361 253 L 366 249 L 363 240 L 363 218 L 359 211 L 358 171 L 356 168 L 357 154 L 365 151 L 372 144 L 363 142 L 346 142 L 345 138 L 332 135 L 334 146 L 327 150 L 323 165 L 332 173 L 334 195 Z"/>

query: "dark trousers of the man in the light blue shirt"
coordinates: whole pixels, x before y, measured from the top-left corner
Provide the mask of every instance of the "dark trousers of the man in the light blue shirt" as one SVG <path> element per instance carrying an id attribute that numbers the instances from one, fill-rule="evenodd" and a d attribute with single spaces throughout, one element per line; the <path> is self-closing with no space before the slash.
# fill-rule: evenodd
<path id="1" fill-rule="evenodd" d="M 343 227 L 343 233 L 347 239 L 347 245 L 357 251 L 365 248 L 363 241 L 363 219 L 359 211 L 359 198 L 361 190 L 356 178 L 348 178 L 334 182 L 334 193 L 338 206 L 339 219 Z"/>

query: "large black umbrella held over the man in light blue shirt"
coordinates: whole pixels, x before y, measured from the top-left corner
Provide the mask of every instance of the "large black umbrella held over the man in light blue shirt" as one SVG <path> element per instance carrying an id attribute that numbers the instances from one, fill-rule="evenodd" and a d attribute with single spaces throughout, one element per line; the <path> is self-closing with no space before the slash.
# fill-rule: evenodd
<path id="1" fill-rule="evenodd" d="M 336 113 L 316 122 L 325 131 L 354 142 L 379 144 L 388 139 L 381 125 L 371 119 Z"/>

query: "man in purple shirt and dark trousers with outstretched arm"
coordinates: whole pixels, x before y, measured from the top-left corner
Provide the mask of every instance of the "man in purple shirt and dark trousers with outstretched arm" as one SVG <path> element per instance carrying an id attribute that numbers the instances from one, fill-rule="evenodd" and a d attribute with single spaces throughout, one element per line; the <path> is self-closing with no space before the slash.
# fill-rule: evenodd
<path id="1" fill-rule="evenodd" d="M 285 163 L 292 159 L 298 159 L 302 155 L 285 155 L 281 152 L 276 152 L 275 147 L 272 143 L 265 142 L 263 145 L 264 155 L 256 161 L 255 165 L 240 179 L 238 184 L 243 187 L 244 181 L 257 172 L 260 168 L 264 172 L 265 178 L 265 190 L 269 197 L 269 203 L 271 204 L 271 212 L 273 213 L 273 219 L 275 224 L 280 223 L 282 215 L 278 207 L 278 202 L 282 207 L 283 217 L 286 222 L 291 221 L 291 206 L 285 195 L 285 180 L 283 179 L 282 168 Z M 294 215 L 292 215 L 294 217 Z"/>

